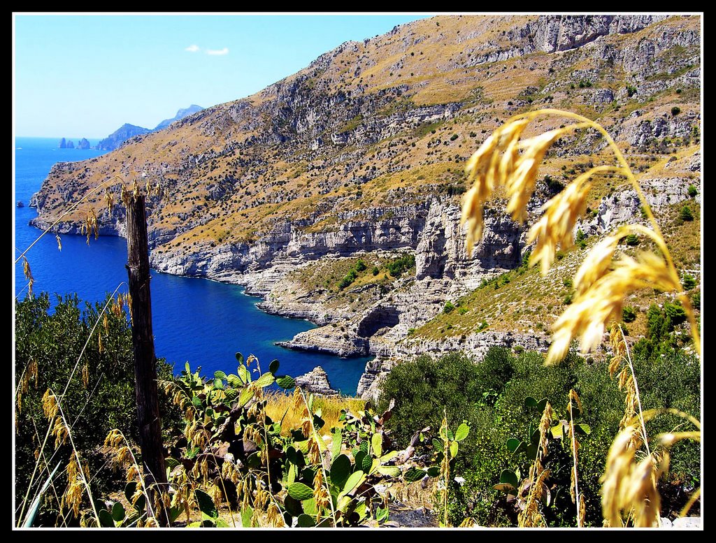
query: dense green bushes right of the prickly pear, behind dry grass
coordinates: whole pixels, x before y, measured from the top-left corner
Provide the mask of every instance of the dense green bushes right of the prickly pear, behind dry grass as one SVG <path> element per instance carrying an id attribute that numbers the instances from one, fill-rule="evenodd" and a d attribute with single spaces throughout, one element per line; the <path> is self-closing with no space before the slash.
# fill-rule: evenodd
<path id="1" fill-rule="evenodd" d="M 520 502 L 516 492 L 495 489 L 503 471 L 511 471 L 515 481 L 528 475 L 534 453 L 511 449 L 515 442 L 531 442 L 544 406 L 536 409 L 526 398 L 547 398 L 555 413 L 551 427 L 569 420 L 569 393 L 576 391 L 584 413 L 576 419 L 589 434 L 579 436 L 579 491 L 584 498 L 586 526 L 601 526 L 600 484 L 611 441 L 619 431 L 624 415 L 624 393 L 609 378 L 606 361 L 585 361 L 574 353 L 559 366 L 544 366 L 541 353 L 514 355 L 507 348 L 493 347 L 481 363 L 473 363 L 462 354 L 450 353 L 437 360 L 420 356 L 415 361 L 398 363 L 382 385 L 382 402 L 395 398 L 394 416 L 387 422 L 398 444 L 415 431 L 416 424 L 440 424 L 436 405 L 445 405 L 448 421 L 467 419 L 470 435 L 461 444 L 461 454 L 453 474 L 464 479 L 450 480 L 448 518 L 453 525 L 471 517 L 482 526 L 515 526 Z M 672 407 L 691 413 L 700 412 L 700 368 L 693 356 L 669 351 L 657 361 L 638 358 L 636 370 L 644 409 Z M 440 376 L 440 379 L 437 379 Z M 576 408 L 575 408 L 576 409 Z M 425 417 L 425 418 L 423 418 Z M 674 429 L 681 421 L 676 416 L 654 419 L 650 433 Z M 572 455 L 569 440 L 558 431 L 546 439 L 548 454 L 543 465 L 549 469 L 546 488 L 549 505 L 541 503 L 546 525 L 574 527 L 576 508 L 570 498 Z M 437 448 L 432 441 L 422 451 Z M 700 446 L 681 442 L 672 449 L 672 464 L 667 478 L 660 482 L 664 516 L 675 514 L 690 491 L 700 484 Z M 545 500 L 546 501 L 546 500 Z M 440 500 L 436 502 L 440 509 Z"/>

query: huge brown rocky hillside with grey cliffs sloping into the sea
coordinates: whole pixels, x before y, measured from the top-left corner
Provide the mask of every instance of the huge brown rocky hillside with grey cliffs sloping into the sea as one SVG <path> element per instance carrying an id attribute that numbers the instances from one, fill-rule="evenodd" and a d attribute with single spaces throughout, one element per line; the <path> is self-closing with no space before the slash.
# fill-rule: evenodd
<path id="1" fill-rule="evenodd" d="M 367 368 L 367 391 L 368 376 L 396 358 L 450 348 L 480 356 L 490 342 L 513 341 L 409 338 L 445 300 L 521 263 L 526 227 L 498 212 L 500 202 L 473 257 L 465 252 L 463 168 L 487 134 L 545 105 L 599 119 L 628 160 L 684 154 L 700 134 L 699 29 L 698 18 L 661 15 L 416 21 L 342 44 L 252 97 L 130 138 L 120 151 L 57 165 L 31 202 L 35 224 L 52 224 L 90 187 L 142 172 L 163 189 L 147 219 L 155 269 L 241 283 L 264 297 L 262 309 L 321 325 L 287 346 L 379 356 Z M 591 133 L 567 138 L 544 172 L 568 182 L 571 166 L 588 160 L 581 155 L 604 145 Z M 697 159 L 686 155 L 656 176 L 644 166 L 655 205 L 678 201 L 694 182 L 699 166 L 686 161 Z M 108 188 L 119 200 L 120 184 Z M 549 192 L 541 181 L 534 216 Z M 89 204 L 102 233 L 123 235 L 120 206 L 110 214 L 100 197 Z M 589 234 L 638 213 L 634 195 L 620 190 L 590 204 L 595 212 L 581 225 Z M 76 232 L 82 218 L 70 215 L 56 229 Z M 339 278 L 294 278 L 321 263 L 401 252 L 415 256 L 414 275 L 345 291 Z"/>

